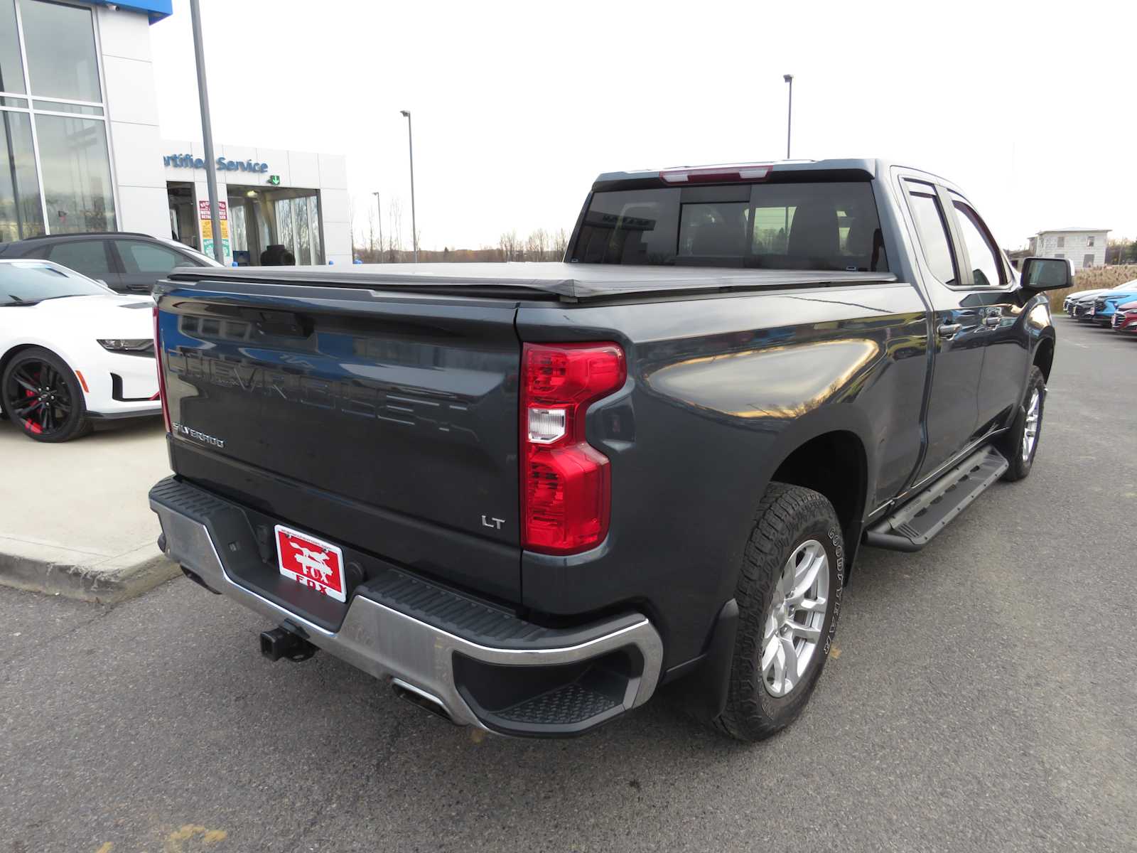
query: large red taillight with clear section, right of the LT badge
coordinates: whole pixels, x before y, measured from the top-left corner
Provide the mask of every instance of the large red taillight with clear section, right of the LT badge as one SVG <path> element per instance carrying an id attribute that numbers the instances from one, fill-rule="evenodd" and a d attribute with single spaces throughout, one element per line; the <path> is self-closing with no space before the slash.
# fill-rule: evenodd
<path id="1" fill-rule="evenodd" d="M 522 545 L 575 554 L 608 535 L 608 458 L 584 439 L 590 403 L 624 383 L 615 343 L 526 343 L 521 357 Z"/>

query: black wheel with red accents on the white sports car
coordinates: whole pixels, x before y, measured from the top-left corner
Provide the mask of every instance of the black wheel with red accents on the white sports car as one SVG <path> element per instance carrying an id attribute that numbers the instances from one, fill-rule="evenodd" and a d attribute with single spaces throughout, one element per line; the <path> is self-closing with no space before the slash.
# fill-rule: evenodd
<path id="1" fill-rule="evenodd" d="M 68 441 L 91 430 L 78 379 L 48 349 L 30 347 L 13 357 L 0 394 L 13 423 L 36 441 Z"/>

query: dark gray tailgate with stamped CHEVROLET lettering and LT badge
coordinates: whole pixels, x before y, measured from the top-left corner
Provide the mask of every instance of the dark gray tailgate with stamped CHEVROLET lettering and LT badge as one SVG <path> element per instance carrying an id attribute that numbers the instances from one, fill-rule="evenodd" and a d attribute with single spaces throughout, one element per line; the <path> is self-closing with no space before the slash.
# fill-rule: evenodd
<path id="1" fill-rule="evenodd" d="M 520 599 L 514 301 L 208 280 L 165 291 L 179 475 Z"/>

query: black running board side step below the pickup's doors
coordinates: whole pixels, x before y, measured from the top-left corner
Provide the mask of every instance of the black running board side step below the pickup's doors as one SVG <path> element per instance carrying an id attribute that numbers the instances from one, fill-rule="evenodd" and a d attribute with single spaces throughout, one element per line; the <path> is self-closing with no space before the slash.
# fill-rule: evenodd
<path id="1" fill-rule="evenodd" d="M 864 544 L 890 550 L 920 550 L 971 502 L 984 494 L 1010 463 L 984 447 L 864 533 Z"/>

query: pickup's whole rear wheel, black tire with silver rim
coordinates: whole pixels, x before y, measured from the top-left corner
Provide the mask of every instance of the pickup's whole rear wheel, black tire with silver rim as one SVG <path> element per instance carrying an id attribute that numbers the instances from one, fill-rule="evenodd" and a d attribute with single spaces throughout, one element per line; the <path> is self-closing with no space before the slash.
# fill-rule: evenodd
<path id="1" fill-rule="evenodd" d="M 714 720 L 739 740 L 789 726 L 813 693 L 840 614 L 845 541 L 832 504 L 771 483 L 742 557 L 727 706 Z"/>

